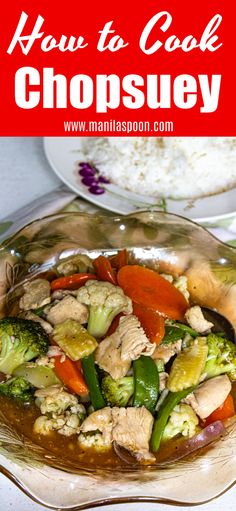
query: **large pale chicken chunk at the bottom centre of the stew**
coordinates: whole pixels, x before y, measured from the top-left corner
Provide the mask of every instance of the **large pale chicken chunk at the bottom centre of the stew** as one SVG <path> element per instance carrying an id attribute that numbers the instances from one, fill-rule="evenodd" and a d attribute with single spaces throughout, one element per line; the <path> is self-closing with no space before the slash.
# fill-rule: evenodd
<path id="1" fill-rule="evenodd" d="M 113 441 L 134 454 L 139 461 L 155 462 L 155 456 L 149 451 L 154 419 L 144 406 L 112 408 L 112 420 Z"/>

